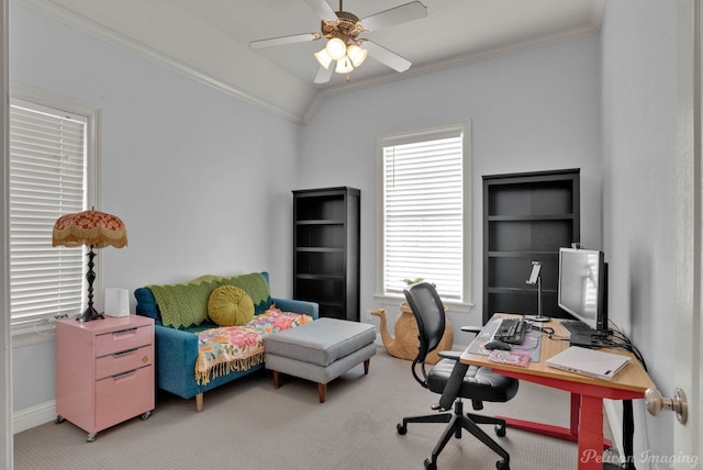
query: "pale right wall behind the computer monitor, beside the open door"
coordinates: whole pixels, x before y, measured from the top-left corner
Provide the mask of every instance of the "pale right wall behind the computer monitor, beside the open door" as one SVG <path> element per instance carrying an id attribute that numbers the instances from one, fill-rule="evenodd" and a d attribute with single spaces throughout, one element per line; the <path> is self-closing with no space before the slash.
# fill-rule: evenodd
<path id="1" fill-rule="evenodd" d="M 611 317 L 673 390 L 676 306 L 676 2 L 605 2 L 602 36 L 605 249 Z M 672 416 L 636 402 L 635 456 L 671 456 Z M 644 436 L 644 430 L 647 435 Z M 639 468 L 639 467 L 638 467 Z"/>

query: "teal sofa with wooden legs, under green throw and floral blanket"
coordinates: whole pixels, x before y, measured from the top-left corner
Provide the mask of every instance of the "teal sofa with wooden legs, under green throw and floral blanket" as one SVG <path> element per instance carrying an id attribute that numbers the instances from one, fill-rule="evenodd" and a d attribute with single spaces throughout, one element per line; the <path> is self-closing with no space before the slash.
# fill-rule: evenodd
<path id="1" fill-rule="evenodd" d="M 157 291 L 158 294 L 158 292 L 165 288 L 166 290 L 169 288 L 178 288 L 181 289 L 181 291 L 186 288 L 192 289 L 192 299 L 188 299 L 187 302 L 182 303 L 193 302 L 192 305 L 188 305 L 188 307 L 197 310 L 202 316 L 201 312 L 207 312 L 208 309 L 208 292 L 222 284 L 241 287 L 247 291 L 248 286 L 252 286 L 252 283 L 241 281 L 257 280 L 257 277 L 259 278 L 257 292 L 255 292 L 256 295 L 252 295 L 254 299 L 255 318 L 256 315 L 266 312 L 271 305 L 275 305 L 282 312 L 305 314 L 313 320 L 319 317 L 319 305 L 314 302 L 271 298 L 268 272 L 228 278 L 207 276 L 182 284 L 148 286 L 134 291 L 137 315 L 148 316 L 155 321 L 156 384 L 159 389 L 186 400 L 196 398 L 196 409 L 198 412 L 201 412 L 203 409 L 204 392 L 263 369 L 264 362 L 261 361 L 260 363 L 242 370 L 230 370 L 226 373 L 220 372 L 216 377 L 212 377 L 209 381 L 202 383 L 202 380 L 199 381 L 196 377 L 196 362 L 199 354 L 199 338 L 197 333 L 217 327 L 217 325 L 212 323 L 210 318 L 204 318 L 204 321 L 200 323 L 192 323 L 190 325 L 175 326 L 172 324 L 169 325 L 168 322 L 165 324 L 161 316 L 161 309 L 153 290 Z M 253 288 L 248 289 L 252 290 Z"/>

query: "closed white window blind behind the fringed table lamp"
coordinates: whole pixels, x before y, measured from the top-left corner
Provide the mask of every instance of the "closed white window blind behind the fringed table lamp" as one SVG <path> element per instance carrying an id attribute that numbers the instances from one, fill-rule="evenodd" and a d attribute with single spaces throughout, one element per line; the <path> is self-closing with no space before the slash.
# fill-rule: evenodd
<path id="1" fill-rule="evenodd" d="M 87 206 L 87 119 L 21 100 L 10 105 L 10 311 L 13 326 L 81 311 L 82 249 L 52 228 Z"/>

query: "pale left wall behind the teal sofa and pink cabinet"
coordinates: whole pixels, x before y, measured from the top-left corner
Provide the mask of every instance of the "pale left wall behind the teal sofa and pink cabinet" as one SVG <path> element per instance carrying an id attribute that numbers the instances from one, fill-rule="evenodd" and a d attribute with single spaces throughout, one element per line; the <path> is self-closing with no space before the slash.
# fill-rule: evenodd
<path id="1" fill-rule="evenodd" d="M 11 80 L 102 109 L 99 209 L 129 232 L 96 258 L 103 286 L 269 270 L 290 295 L 299 126 L 11 7 Z M 15 348 L 15 412 L 54 400 L 53 350 Z"/>

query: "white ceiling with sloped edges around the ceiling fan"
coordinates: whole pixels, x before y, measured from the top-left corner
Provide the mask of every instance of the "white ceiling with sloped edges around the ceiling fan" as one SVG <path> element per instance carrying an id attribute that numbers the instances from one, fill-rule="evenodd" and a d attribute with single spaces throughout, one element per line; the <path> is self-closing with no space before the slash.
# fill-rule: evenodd
<path id="1" fill-rule="evenodd" d="M 327 0 L 339 10 L 337 0 Z M 358 18 L 411 0 L 345 0 Z M 605 0 L 421 0 L 426 18 L 364 36 L 409 59 L 400 74 L 372 55 L 313 82 L 325 40 L 253 49 L 252 41 L 320 32 L 305 0 L 15 0 L 88 34 L 304 123 L 325 97 L 596 34 Z"/>

